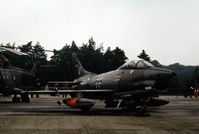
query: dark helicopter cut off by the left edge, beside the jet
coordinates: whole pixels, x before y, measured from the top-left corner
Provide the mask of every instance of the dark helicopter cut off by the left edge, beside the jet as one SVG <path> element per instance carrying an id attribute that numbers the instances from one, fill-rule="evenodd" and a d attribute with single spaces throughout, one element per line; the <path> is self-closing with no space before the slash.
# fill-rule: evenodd
<path id="1" fill-rule="evenodd" d="M 33 89 L 37 66 L 34 65 L 30 71 L 14 67 L 4 56 L 3 51 L 9 51 L 18 56 L 27 56 L 27 54 L 4 47 L 0 49 L 0 94 L 2 96 L 14 95 L 13 102 L 30 102 L 28 94 L 24 91 Z"/>

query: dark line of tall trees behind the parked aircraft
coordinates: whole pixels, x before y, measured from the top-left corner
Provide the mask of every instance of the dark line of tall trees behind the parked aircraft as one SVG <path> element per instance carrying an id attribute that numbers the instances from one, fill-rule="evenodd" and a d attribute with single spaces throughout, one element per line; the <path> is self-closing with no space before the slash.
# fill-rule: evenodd
<path id="1" fill-rule="evenodd" d="M 7 54 L 6 56 L 9 57 L 12 65 L 17 67 L 30 69 L 32 64 L 40 65 L 38 77 L 41 81 L 45 82 L 49 80 L 73 80 L 75 78 L 71 66 L 71 54 L 73 52 L 78 55 L 85 69 L 94 73 L 103 73 L 117 69 L 128 59 L 125 52 L 119 47 L 115 47 L 114 49 L 108 47 L 104 50 L 104 47 L 97 45 L 92 37 L 80 47 L 76 45 L 75 41 L 72 41 L 71 44 L 64 45 L 60 50 L 52 50 L 53 55 L 49 61 L 47 60 L 44 47 L 42 47 L 39 42 L 33 45 L 32 41 L 30 41 L 27 44 L 22 44 L 17 47 L 15 43 L 0 45 L 28 53 L 29 58 L 17 58 L 16 56 L 12 56 L 12 54 Z M 199 83 L 198 66 L 185 66 L 180 63 L 165 66 L 159 63 L 158 60 L 152 59 L 145 50 L 142 50 L 137 57 L 149 61 L 157 67 L 168 68 L 176 72 L 177 77 L 158 81 L 157 83 L 159 84 L 157 88 L 168 88 L 169 93 L 182 94 L 189 91 L 190 87 L 195 87 L 197 83 Z M 167 86 L 162 87 L 162 85 Z"/>

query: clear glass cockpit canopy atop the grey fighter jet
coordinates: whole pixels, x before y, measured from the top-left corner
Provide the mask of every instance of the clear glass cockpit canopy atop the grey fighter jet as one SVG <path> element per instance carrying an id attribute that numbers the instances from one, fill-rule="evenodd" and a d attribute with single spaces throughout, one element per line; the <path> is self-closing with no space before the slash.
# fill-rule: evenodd
<path id="1" fill-rule="evenodd" d="M 154 65 L 145 60 L 131 60 L 124 63 L 118 69 L 144 69 L 152 66 Z"/>

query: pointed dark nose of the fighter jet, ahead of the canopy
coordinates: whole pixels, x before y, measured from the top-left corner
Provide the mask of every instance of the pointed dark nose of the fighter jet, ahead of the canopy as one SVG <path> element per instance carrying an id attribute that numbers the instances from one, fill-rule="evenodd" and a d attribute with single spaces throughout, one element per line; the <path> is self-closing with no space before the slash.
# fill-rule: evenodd
<path id="1" fill-rule="evenodd" d="M 151 70 L 148 70 L 145 73 L 146 78 L 153 79 L 153 80 L 164 79 L 164 78 L 168 78 L 174 75 L 176 75 L 176 73 L 172 70 L 157 68 L 157 67 L 151 68 Z"/>

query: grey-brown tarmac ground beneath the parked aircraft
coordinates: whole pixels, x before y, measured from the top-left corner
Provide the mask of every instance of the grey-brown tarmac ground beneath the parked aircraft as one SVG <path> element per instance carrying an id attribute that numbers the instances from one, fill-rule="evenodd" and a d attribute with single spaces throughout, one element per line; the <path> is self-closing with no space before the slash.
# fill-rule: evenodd
<path id="1" fill-rule="evenodd" d="M 11 103 L 0 97 L 0 134 L 198 134 L 199 98 L 162 96 L 170 103 L 135 116 L 106 109 L 101 101 L 88 112 L 57 105 L 59 97 L 40 96 L 31 103 Z"/>

